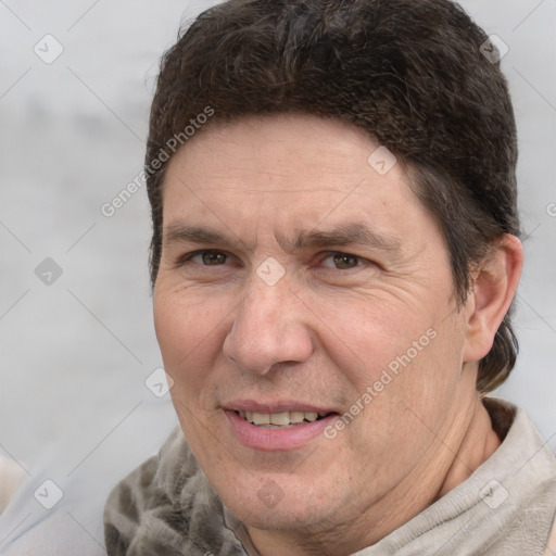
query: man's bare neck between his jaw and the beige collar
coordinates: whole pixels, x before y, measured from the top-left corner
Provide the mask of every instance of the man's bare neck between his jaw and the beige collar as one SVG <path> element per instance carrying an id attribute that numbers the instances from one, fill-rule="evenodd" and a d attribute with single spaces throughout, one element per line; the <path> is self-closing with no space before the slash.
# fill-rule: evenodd
<path id="1" fill-rule="evenodd" d="M 501 444 L 477 393 L 453 416 L 439 440 L 441 447 L 433 455 L 355 521 L 334 523 L 327 531 L 248 528 L 254 545 L 262 556 L 353 554 L 377 543 L 464 482 Z"/>

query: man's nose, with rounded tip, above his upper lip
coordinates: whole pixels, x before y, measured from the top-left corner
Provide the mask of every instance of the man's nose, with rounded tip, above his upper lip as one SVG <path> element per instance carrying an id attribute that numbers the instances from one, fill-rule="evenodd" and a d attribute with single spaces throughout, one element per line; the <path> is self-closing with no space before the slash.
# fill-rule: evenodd
<path id="1" fill-rule="evenodd" d="M 224 355 L 258 375 L 278 364 L 303 363 L 314 351 L 309 314 L 287 277 L 268 286 L 254 275 L 225 338 Z"/>

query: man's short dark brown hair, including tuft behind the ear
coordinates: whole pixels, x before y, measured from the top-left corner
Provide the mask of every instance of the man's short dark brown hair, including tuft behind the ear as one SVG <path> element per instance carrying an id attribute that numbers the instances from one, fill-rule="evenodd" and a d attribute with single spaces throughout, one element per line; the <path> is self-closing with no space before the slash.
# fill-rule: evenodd
<path id="1" fill-rule="evenodd" d="M 404 162 L 440 224 L 463 304 L 472 265 L 502 235 L 520 237 L 515 118 L 500 63 L 481 52 L 486 40 L 448 0 L 230 0 L 201 13 L 164 54 L 151 109 L 152 282 L 168 156 L 153 162 L 172 138 L 187 140 L 207 106 L 207 126 L 303 112 L 363 128 Z M 515 365 L 510 315 L 479 363 L 481 392 Z"/>

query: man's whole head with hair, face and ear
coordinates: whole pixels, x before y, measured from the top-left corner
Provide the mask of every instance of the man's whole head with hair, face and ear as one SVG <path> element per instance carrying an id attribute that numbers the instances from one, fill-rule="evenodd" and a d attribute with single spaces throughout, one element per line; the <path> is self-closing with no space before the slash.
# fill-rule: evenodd
<path id="1" fill-rule="evenodd" d="M 193 454 L 255 529 L 362 522 L 356 548 L 384 507 L 410 517 L 514 365 L 515 125 L 485 40 L 445 1 L 236 1 L 164 59 L 156 333 Z"/>

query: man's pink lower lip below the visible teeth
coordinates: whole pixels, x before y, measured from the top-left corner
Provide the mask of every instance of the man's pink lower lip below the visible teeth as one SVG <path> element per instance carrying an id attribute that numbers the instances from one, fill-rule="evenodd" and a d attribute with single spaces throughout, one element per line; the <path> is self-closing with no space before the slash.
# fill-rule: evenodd
<path id="1" fill-rule="evenodd" d="M 226 409 L 226 416 L 238 440 L 248 447 L 266 452 L 294 450 L 324 433 L 330 422 L 338 417 L 329 415 L 318 421 L 295 425 L 285 429 L 264 429 L 248 422 L 236 412 Z"/>

